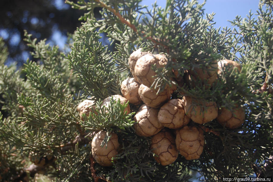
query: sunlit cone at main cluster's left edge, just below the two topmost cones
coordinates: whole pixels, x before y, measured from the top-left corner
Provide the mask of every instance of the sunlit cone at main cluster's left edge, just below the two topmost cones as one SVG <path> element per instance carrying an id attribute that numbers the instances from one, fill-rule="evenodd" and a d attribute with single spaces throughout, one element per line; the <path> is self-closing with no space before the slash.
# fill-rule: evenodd
<path id="1" fill-rule="evenodd" d="M 134 78 L 127 78 L 121 82 L 121 93 L 129 101 L 129 103 L 134 105 L 139 105 L 142 103 L 142 100 L 138 95 L 139 86 L 140 84 L 136 82 Z"/>

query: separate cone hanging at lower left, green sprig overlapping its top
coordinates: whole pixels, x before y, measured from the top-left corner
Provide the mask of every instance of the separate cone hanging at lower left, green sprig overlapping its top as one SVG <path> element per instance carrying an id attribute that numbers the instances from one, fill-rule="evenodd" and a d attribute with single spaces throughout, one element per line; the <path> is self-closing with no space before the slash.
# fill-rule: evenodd
<path id="1" fill-rule="evenodd" d="M 91 146 L 92 146 L 92 156 L 96 160 L 96 162 L 101 166 L 112 166 L 112 157 L 118 154 L 118 135 L 115 133 L 111 133 L 111 138 L 107 142 L 107 145 L 104 144 L 101 147 L 101 143 L 105 135 L 106 131 L 99 131 L 93 138 Z"/>

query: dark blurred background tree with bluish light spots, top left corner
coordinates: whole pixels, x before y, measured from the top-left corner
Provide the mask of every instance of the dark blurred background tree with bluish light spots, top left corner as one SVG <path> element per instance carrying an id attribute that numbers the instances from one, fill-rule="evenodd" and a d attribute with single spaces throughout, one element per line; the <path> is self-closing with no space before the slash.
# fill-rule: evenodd
<path id="1" fill-rule="evenodd" d="M 47 39 L 55 43 L 56 36 L 65 40 L 80 26 L 83 11 L 72 9 L 64 0 L 2 0 L 0 2 L 0 36 L 9 50 L 8 63 L 16 61 L 22 66 L 26 58 L 33 60 L 26 46 L 24 30 L 38 41 Z M 94 10 L 99 16 L 99 9 Z M 55 33 L 55 37 L 53 37 Z"/>

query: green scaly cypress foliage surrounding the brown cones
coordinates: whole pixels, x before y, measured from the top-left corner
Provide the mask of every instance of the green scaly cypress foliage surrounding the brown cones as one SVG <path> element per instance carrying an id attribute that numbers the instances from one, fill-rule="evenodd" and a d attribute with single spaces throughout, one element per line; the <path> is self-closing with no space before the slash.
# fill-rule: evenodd
<path id="1" fill-rule="evenodd" d="M 8 52 L 0 39 L 2 181 L 32 181 L 37 171 L 54 181 L 221 181 L 254 174 L 272 179 L 272 3 L 261 1 L 257 18 L 252 12 L 244 19 L 237 16 L 231 30 L 215 28 L 215 14 L 203 16 L 204 3 L 197 0 L 167 0 L 166 8 L 154 4 L 152 10 L 140 2 L 67 1 L 87 10 L 80 18 L 85 23 L 70 36 L 70 53 L 46 40 L 37 43 L 25 32 L 39 61 L 27 60 L 19 70 L 3 64 Z M 102 8 L 102 18 L 94 17 L 96 7 Z M 103 45 L 101 33 L 116 51 Z M 227 129 L 215 119 L 191 121 L 204 131 L 200 158 L 186 160 L 179 154 L 170 165 L 157 163 L 150 137 L 136 135 L 132 127 L 139 106 L 113 98 L 107 107 L 102 105 L 105 98 L 121 95 L 121 81 L 132 77 L 128 59 L 138 48 L 168 59 L 163 68 L 151 66 L 156 74 L 152 89 L 161 92 L 176 83 L 172 99 L 190 96 L 216 102 L 219 109 L 241 106 L 244 124 Z M 211 86 L 206 79 L 193 81 L 195 86 L 181 82 L 187 72 L 208 71 L 223 59 L 236 61 L 241 72 L 226 69 Z M 96 109 L 81 120 L 77 106 L 85 99 L 96 101 Z M 128 105 L 131 112 L 124 113 Z M 100 130 L 108 131 L 102 145 L 108 145 L 111 133 L 118 135 L 119 152 L 111 167 L 100 166 L 92 156 L 91 142 Z"/>

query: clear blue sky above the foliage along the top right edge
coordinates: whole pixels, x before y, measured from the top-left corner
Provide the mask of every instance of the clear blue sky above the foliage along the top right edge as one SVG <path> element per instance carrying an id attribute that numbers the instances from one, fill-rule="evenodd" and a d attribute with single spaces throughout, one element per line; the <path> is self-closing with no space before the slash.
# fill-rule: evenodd
<path id="1" fill-rule="evenodd" d="M 200 3 L 203 0 L 199 0 Z M 143 0 L 142 5 L 148 5 L 148 8 L 152 8 L 154 0 Z M 166 1 L 157 1 L 157 4 L 161 7 L 166 6 Z M 249 10 L 254 14 L 258 9 L 259 0 L 207 0 L 204 5 L 205 13 L 211 14 L 215 12 L 213 21 L 216 22 L 215 28 L 218 27 L 231 27 L 231 24 L 227 20 L 235 19 L 236 15 L 241 15 L 242 18 L 246 18 L 249 14 Z"/>

